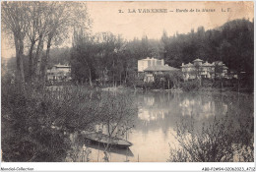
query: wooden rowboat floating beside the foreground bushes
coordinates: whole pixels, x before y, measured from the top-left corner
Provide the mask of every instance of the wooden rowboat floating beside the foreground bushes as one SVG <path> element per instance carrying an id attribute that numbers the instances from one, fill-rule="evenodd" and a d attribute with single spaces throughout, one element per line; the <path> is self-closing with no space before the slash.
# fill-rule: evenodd
<path id="1" fill-rule="evenodd" d="M 105 143 L 105 144 L 109 143 L 111 145 L 118 146 L 118 147 L 128 147 L 133 145 L 128 141 L 125 141 L 119 138 L 109 137 L 101 133 L 86 134 L 85 139 L 95 143 Z"/>

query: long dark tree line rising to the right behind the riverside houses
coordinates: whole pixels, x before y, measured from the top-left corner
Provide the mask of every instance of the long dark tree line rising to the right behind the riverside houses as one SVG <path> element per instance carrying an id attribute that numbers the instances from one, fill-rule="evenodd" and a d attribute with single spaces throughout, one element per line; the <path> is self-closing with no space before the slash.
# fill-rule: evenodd
<path id="1" fill-rule="evenodd" d="M 121 35 L 101 32 L 94 35 L 83 30 L 74 30 L 70 62 L 75 81 L 99 80 L 103 84 L 105 76 L 113 85 L 136 81 L 139 59 L 155 57 L 164 59 L 169 66 L 179 68 L 200 58 L 210 63 L 222 61 L 229 71 L 248 74 L 253 77 L 253 28 L 249 20 L 234 20 L 217 29 L 205 30 L 199 27 L 189 33 L 176 32 L 168 36 L 164 30 L 160 39 L 125 40 Z"/>

